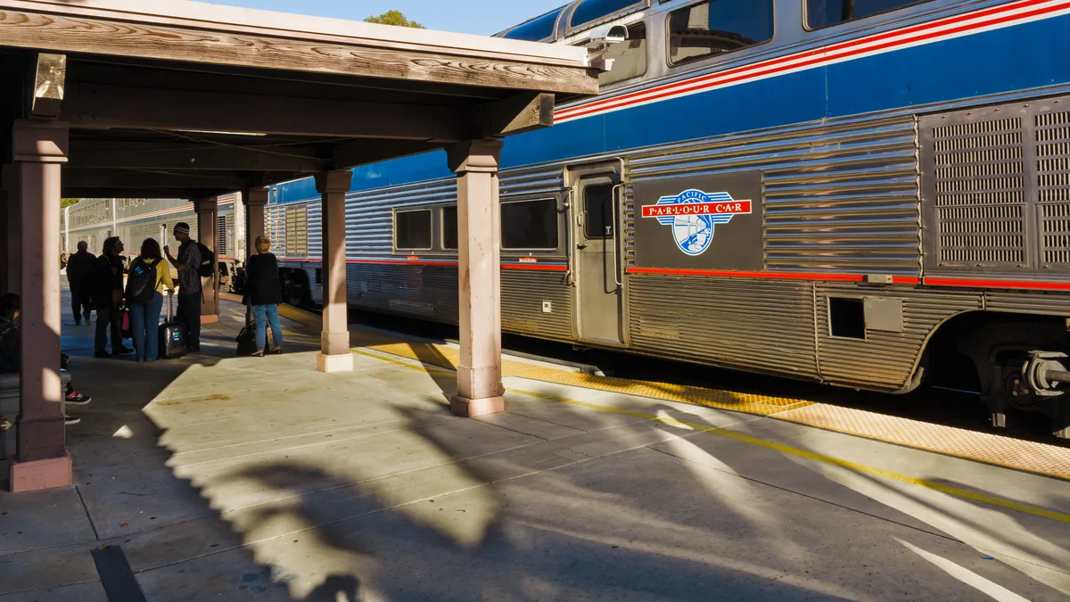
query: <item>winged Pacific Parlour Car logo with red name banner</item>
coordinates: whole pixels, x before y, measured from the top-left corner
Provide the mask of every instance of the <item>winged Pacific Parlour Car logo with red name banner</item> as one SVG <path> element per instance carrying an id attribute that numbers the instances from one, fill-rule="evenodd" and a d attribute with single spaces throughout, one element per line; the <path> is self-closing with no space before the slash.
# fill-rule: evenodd
<path id="1" fill-rule="evenodd" d="M 676 246 L 692 257 L 702 255 L 714 242 L 714 227 L 732 217 L 750 213 L 750 200 L 736 200 L 729 193 L 684 191 L 663 196 L 657 205 L 643 207 L 643 217 L 654 217 L 662 226 L 672 226 Z"/>

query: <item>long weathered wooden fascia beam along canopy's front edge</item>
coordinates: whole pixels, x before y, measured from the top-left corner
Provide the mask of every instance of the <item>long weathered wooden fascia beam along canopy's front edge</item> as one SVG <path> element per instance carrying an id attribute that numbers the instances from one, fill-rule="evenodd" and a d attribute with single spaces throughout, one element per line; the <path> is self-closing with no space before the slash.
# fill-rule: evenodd
<path id="1" fill-rule="evenodd" d="M 410 79 L 441 84 L 538 90 L 565 94 L 596 94 L 598 82 L 584 61 L 536 58 L 534 52 L 504 51 L 526 48 L 494 42 L 493 49 L 450 48 L 434 44 L 428 32 L 426 44 L 389 44 L 382 40 L 335 35 L 335 41 L 310 39 L 284 28 L 274 35 L 244 33 L 228 24 L 204 20 L 150 19 L 137 13 L 114 14 L 68 2 L 4 0 L 0 3 L 0 40 L 4 46 L 138 57 L 256 69 L 343 74 L 384 79 Z M 255 14 L 250 12 L 250 14 Z M 140 17 L 140 18 L 139 18 Z M 183 27 L 165 22 L 179 22 Z M 196 24 L 196 27 L 193 27 Z M 448 34 L 440 34 L 448 37 Z M 560 52 L 560 51 L 559 51 Z M 549 54 L 549 50 L 547 51 Z M 510 56 L 511 55 L 511 56 Z M 507 58 L 508 57 L 508 58 Z"/>

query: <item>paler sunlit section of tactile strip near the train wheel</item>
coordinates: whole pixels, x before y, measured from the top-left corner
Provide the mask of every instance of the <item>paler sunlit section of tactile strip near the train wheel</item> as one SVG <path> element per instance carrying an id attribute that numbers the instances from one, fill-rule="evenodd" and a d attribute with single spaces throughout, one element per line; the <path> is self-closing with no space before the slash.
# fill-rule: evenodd
<path id="1" fill-rule="evenodd" d="M 828 404 L 790 409 L 774 418 L 1070 480 L 1070 448 Z"/>

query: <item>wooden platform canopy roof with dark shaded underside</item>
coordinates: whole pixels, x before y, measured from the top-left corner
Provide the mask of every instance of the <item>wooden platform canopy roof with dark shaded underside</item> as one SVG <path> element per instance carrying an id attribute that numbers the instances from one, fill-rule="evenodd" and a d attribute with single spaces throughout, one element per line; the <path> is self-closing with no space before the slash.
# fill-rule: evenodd
<path id="1" fill-rule="evenodd" d="M 545 127 L 597 92 L 582 48 L 182 0 L 0 0 L 0 137 L 70 126 L 64 196 L 142 198 Z"/>

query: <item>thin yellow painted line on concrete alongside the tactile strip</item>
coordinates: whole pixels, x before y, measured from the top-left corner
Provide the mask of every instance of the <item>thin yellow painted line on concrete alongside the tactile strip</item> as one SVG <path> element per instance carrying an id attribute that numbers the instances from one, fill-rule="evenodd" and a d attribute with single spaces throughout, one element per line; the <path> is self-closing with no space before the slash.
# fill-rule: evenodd
<path id="1" fill-rule="evenodd" d="M 456 375 L 454 373 L 447 372 L 446 370 L 438 367 L 438 366 L 427 366 L 427 365 L 411 364 L 411 363 L 403 362 L 403 361 L 400 361 L 400 360 L 394 360 L 394 359 L 391 359 L 391 358 L 384 358 L 384 357 L 376 355 L 376 353 L 369 353 L 369 352 L 363 351 L 361 349 L 353 349 L 353 351 L 356 352 L 356 353 L 360 353 L 362 356 L 366 356 L 366 357 L 369 357 L 369 358 L 374 358 L 377 360 L 384 361 L 384 362 L 389 362 L 392 364 L 399 365 L 399 366 L 402 366 L 402 367 L 408 367 L 410 370 L 415 370 L 415 371 L 425 372 L 425 373 L 435 372 L 435 373 L 438 373 L 438 374 L 440 374 L 442 376 L 448 376 L 448 377 L 452 377 L 452 378 L 456 378 Z M 876 468 L 876 467 L 873 467 L 873 466 L 867 466 L 865 464 L 859 464 L 857 462 L 851 462 L 850 460 L 843 460 L 843 458 L 839 458 L 839 457 L 834 457 L 834 456 L 830 456 L 830 455 L 825 455 L 825 454 L 822 454 L 822 453 L 812 452 L 812 451 L 804 450 L 804 449 L 799 449 L 799 448 L 793 448 L 791 446 L 785 446 L 783 443 L 777 443 L 775 441 L 769 441 L 769 440 L 766 440 L 766 439 L 761 439 L 761 438 L 758 438 L 758 437 L 752 437 L 750 435 L 745 435 L 743 433 L 736 433 L 734 431 L 728 431 L 728 430 L 724 430 L 724 428 L 719 427 L 719 426 L 709 426 L 708 424 L 699 424 L 699 423 L 694 423 L 694 422 L 685 422 L 685 421 L 682 421 L 682 420 L 676 420 L 675 418 L 655 416 L 655 415 L 652 415 L 652 413 L 646 413 L 646 412 L 642 412 L 642 411 L 638 411 L 638 410 L 626 409 L 626 408 L 618 408 L 618 407 L 607 406 L 607 405 L 601 405 L 601 404 L 594 404 L 594 403 L 591 403 L 591 402 L 581 402 L 581 401 L 578 401 L 578 400 L 569 400 L 567 397 L 562 397 L 562 396 L 559 396 L 559 395 L 548 395 L 548 394 L 545 394 L 545 393 L 535 393 L 535 392 L 532 392 L 532 391 L 523 391 L 523 390 L 520 390 L 520 389 L 511 389 L 511 388 L 506 389 L 506 390 L 509 391 L 509 392 L 513 392 L 513 393 L 520 394 L 520 395 L 528 395 L 528 396 L 537 397 L 537 398 L 544 398 L 544 400 L 549 400 L 549 401 L 554 401 L 554 402 L 561 402 L 561 403 L 565 403 L 565 404 L 569 404 L 569 405 L 574 405 L 574 406 L 580 406 L 580 407 L 585 407 L 585 408 L 591 408 L 591 409 L 596 409 L 596 410 L 601 410 L 601 411 L 609 411 L 609 412 L 613 412 L 613 413 L 621 413 L 621 415 L 630 416 L 630 417 L 633 417 L 633 418 L 639 418 L 639 419 L 642 419 L 642 420 L 656 421 L 656 422 L 660 422 L 662 424 L 668 424 L 670 426 L 686 426 L 686 427 L 692 428 L 694 431 L 701 431 L 701 432 L 705 432 L 705 433 L 710 433 L 710 434 L 714 434 L 714 435 L 717 435 L 717 436 L 720 436 L 720 437 L 724 437 L 724 438 L 728 438 L 728 439 L 732 439 L 732 440 L 735 440 L 735 441 L 740 441 L 740 442 L 744 442 L 744 443 L 750 443 L 750 445 L 753 445 L 753 446 L 759 446 L 761 448 L 765 448 L 765 449 L 768 449 L 768 450 L 778 451 L 778 452 L 786 454 L 786 455 L 793 455 L 793 456 L 796 456 L 796 457 L 801 457 L 801 458 L 805 458 L 805 460 L 809 460 L 809 461 L 812 461 L 812 462 L 819 462 L 819 463 L 822 463 L 822 464 L 828 464 L 828 465 L 831 465 L 831 466 L 839 466 L 841 468 L 846 468 L 849 470 L 853 470 L 855 472 L 860 472 L 860 473 L 863 473 L 863 475 L 873 475 L 875 477 L 883 477 L 885 479 L 890 479 L 892 481 L 898 481 L 898 482 L 901 482 L 901 483 L 906 483 L 908 485 L 915 485 L 915 486 L 918 486 L 918 487 L 924 487 L 927 490 L 932 490 L 932 491 L 939 492 L 939 493 L 943 493 L 943 494 L 946 494 L 946 495 L 954 496 L 954 497 L 958 497 L 958 498 L 961 498 L 961 499 L 967 499 L 967 500 L 970 500 L 970 501 L 976 501 L 978 503 L 983 503 L 983 505 L 987 505 L 987 506 L 993 506 L 993 507 L 996 507 L 996 508 L 1003 508 L 1005 510 L 1011 510 L 1011 511 L 1014 511 L 1014 512 L 1021 512 L 1023 514 L 1030 514 L 1033 516 L 1039 516 L 1041 518 L 1049 518 L 1051 521 L 1058 521 L 1060 523 L 1070 524 L 1070 514 L 1066 514 L 1066 513 L 1063 513 L 1063 512 L 1056 512 L 1054 510 L 1048 510 L 1045 508 L 1040 508 L 1040 507 L 1031 506 L 1031 505 L 1028 505 L 1028 503 L 1022 503 L 1022 502 L 1019 502 L 1019 501 L 1013 501 L 1013 500 L 1005 499 L 1005 498 L 1002 498 L 1002 497 L 991 496 L 991 495 L 988 495 L 988 494 L 982 494 L 982 493 L 979 493 L 979 492 L 964 490 L 964 488 L 961 488 L 961 487 L 954 487 L 954 486 L 951 486 L 951 485 L 946 485 L 944 483 L 937 483 L 935 481 L 929 481 L 929 480 L 926 480 L 926 479 L 917 479 L 917 478 L 914 478 L 914 477 L 908 477 L 906 475 L 901 475 L 899 472 L 893 472 L 891 470 L 885 470 L 883 468 Z"/>

